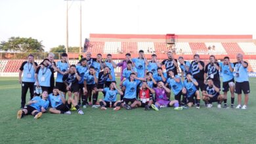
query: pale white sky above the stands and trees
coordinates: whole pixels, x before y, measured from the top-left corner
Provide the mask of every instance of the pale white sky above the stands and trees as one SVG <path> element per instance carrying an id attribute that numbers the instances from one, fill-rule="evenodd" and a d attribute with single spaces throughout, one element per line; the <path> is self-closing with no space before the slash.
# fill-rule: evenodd
<path id="1" fill-rule="evenodd" d="M 82 43 L 89 33 L 256 36 L 253 0 L 85 0 Z M 66 45 L 64 0 L 0 0 L 0 41 L 32 37 L 45 51 Z M 69 46 L 79 46 L 80 1 L 68 1 Z M 82 44 L 83 45 L 83 44 Z"/>

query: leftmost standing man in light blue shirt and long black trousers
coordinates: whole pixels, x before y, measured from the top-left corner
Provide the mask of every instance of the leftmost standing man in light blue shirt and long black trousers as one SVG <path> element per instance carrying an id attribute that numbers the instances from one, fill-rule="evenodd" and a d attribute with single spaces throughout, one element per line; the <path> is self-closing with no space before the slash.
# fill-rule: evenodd
<path id="1" fill-rule="evenodd" d="M 33 84 L 35 84 L 35 70 L 37 69 L 37 63 L 34 62 L 33 58 L 32 54 L 28 55 L 28 60 L 22 63 L 18 73 L 18 81 L 22 84 L 20 108 L 25 106 L 28 88 L 30 88 L 30 99 L 33 98 Z M 22 73 L 23 77 L 21 79 Z"/>

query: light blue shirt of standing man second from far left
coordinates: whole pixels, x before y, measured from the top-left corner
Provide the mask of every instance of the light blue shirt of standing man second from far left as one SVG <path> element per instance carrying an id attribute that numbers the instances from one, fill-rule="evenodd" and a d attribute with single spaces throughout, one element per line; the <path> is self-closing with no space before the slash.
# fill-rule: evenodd
<path id="1" fill-rule="evenodd" d="M 53 75 L 53 68 L 48 68 L 48 67 L 37 67 L 37 78 L 40 86 L 47 86 L 50 87 L 50 80 L 51 80 L 51 75 Z"/>

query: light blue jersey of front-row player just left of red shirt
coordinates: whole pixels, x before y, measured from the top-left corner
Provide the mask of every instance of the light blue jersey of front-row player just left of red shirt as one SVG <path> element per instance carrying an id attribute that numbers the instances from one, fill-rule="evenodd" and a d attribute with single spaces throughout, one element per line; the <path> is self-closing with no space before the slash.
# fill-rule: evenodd
<path id="1" fill-rule="evenodd" d="M 137 94 L 137 85 L 139 84 L 140 81 L 129 81 L 129 80 L 125 80 L 123 82 L 123 86 L 125 86 L 125 96 L 123 96 L 123 98 L 127 98 L 127 99 L 133 99 L 136 98 L 136 94 Z"/>

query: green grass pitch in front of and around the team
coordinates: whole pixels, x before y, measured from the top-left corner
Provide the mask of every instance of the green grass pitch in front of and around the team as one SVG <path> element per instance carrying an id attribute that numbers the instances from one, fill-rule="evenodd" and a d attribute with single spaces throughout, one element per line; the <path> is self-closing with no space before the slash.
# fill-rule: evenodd
<path id="1" fill-rule="evenodd" d="M 201 106 L 182 111 L 89 107 L 83 109 L 85 115 L 45 113 L 38 120 L 31 115 L 17 120 L 18 78 L 1 77 L 0 143 L 256 143 L 255 80 L 250 79 L 247 110 L 217 109 L 217 103 L 211 109 Z"/>

